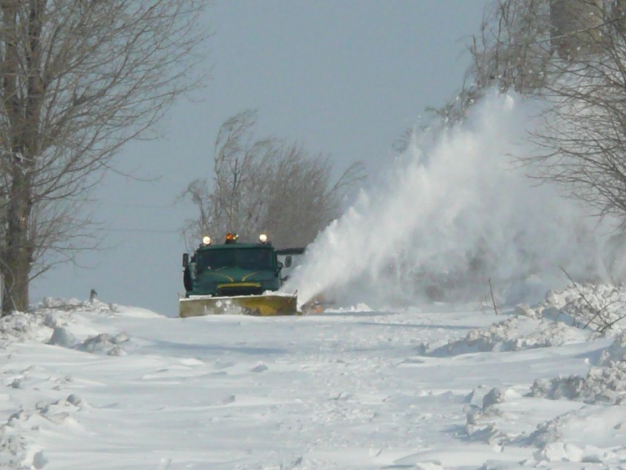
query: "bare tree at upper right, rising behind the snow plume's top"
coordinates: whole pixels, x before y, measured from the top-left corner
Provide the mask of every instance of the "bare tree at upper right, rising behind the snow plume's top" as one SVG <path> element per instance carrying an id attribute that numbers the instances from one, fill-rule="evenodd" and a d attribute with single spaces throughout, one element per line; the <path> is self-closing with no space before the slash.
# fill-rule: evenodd
<path id="1" fill-rule="evenodd" d="M 543 95 L 563 74 L 561 61 L 602 52 L 603 26 L 623 27 L 625 8 L 624 0 L 492 1 L 471 37 L 463 87 L 440 113 L 464 116 L 488 88 Z"/>

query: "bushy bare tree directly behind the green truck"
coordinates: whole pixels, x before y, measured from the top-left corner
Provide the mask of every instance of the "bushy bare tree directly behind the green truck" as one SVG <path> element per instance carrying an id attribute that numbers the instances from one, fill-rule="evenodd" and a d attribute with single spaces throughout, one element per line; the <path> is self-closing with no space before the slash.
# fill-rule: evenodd
<path id="1" fill-rule="evenodd" d="M 278 246 L 303 246 L 339 214 L 342 196 L 364 178 L 355 163 L 332 184 L 328 157 L 310 155 L 280 139 L 255 139 L 257 111 L 223 123 L 214 152 L 212 185 L 194 180 L 182 194 L 198 208 L 188 221 L 188 240 L 236 231 L 254 241 L 267 232 Z"/>

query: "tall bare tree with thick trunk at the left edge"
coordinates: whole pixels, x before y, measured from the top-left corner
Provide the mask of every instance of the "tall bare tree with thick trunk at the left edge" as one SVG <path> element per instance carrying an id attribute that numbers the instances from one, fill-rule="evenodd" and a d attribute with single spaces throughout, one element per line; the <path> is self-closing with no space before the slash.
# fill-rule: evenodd
<path id="1" fill-rule="evenodd" d="M 49 253 L 93 235 L 77 206 L 120 146 L 198 84 L 206 4 L 0 0 L 3 313 L 29 308 Z"/>

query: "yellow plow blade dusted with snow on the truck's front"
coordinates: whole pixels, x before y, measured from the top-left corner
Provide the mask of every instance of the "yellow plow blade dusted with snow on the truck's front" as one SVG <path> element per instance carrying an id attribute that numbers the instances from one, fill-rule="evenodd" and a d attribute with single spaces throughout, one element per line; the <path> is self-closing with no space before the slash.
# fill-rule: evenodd
<path id="1" fill-rule="evenodd" d="M 245 295 L 240 297 L 191 297 L 179 299 L 179 316 L 201 317 L 203 315 L 256 315 L 273 317 L 296 315 L 296 295 Z"/>

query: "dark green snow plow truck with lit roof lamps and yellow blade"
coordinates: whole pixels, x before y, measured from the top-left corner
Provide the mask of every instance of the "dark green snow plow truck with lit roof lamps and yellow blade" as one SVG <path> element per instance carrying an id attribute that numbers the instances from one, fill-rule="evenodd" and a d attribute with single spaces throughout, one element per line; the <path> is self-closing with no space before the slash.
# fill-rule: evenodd
<path id="1" fill-rule="evenodd" d="M 268 236 L 258 243 L 239 243 L 235 233 L 227 233 L 222 244 L 205 236 L 189 255 L 183 253 L 184 297 L 179 298 L 179 316 L 246 314 L 257 316 L 295 315 L 296 294 L 277 292 L 282 284 L 281 270 L 291 265 L 278 261 Z"/>

